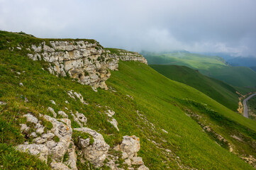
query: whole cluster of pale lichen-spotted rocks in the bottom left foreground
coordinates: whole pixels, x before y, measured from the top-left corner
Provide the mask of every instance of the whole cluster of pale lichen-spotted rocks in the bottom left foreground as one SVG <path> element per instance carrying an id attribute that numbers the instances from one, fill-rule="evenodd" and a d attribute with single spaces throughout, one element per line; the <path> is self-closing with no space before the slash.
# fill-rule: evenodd
<path id="1" fill-rule="evenodd" d="M 60 112 L 62 111 L 59 111 L 58 114 Z M 108 110 L 107 113 L 108 118 L 115 114 L 111 110 Z M 36 118 L 31 113 L 23 115 L 28 125 L 30 125 L 30 131 L 35 130 L 37 133 L 31 132 L 29 134 L 28 125 L 21 124 L 21 131 L 33 137 L 33 141 L 32 144 L 25 142 L 23 145 L 18 145 L 16 149 L 21 152 L 29 152 L 45 162 L 50 160 L 48 164 L 50 164 L 52 169 L 77 170 L 77 153 L 82 153 L 78 154 L 79 160 L 81 158 L 86 159 L 95 168 L 105 164 L 112 170 L 123 170 L 118 167 L 120 164 L 116 162 L 120 159 L 125 159 L 122 166 L 127 164 L 128 169 L 137 167 L 136 169 L 148 170 L 148 167 L 144 165 L 143 159 L 137 157 L 137 152 L 140 150 L 140 139 L 138 137 L 134 135 L 124 136 L 121 145 L 114 147 L 114 149 L 122 154 L 114 156 L 111 153 L 116 152 L 108 152 L 110 147 L 99 132 L 82 127 L 87 123 L 87 118 L 84 114 L 77 112 L 75 115 L 74 117 L 78 119 L 77 121 L 81 124 L 81 128 L 72 129 L 71 121 L 68 118 L 57 119 L 49 115 L 40 115 L 40 118 Z M 44 130 L 45 127 L 41 122 L 42 118 L 52 123 L 51 130 Z M 40 128 L 43 128 L 41 135 L 38 134 L 38 129 Z M 74 135 L 76 137 L 72 138 L 73 133 L 79 135 Z"/>

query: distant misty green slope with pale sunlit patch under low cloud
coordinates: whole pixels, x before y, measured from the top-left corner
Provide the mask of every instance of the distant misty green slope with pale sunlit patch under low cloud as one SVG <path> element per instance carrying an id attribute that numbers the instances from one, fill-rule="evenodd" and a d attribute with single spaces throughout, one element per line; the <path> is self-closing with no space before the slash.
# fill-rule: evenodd
<path id="1" fill-rule="evenodd" d="M 256 86 L 256 73 L 248 67 L 231 67 L 221 57 L 190 53 L 144 55 L 149 64 L 174 64 L 199 69 L 206 76 L 226 81 L 233 86 Z"/>

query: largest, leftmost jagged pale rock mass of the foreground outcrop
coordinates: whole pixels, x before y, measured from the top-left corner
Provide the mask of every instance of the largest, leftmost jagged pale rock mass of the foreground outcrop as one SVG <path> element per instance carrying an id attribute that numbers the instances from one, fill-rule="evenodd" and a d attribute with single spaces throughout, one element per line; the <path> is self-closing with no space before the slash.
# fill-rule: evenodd
<path id="1" fill-rule="evenodd" d="M 43 126 L 38 121 L 38 118 L 35 118 L 30 113 L 24 115 L 24 117 L 27 118 L 27 122 L 35 125 L 34 128 L 37 131 Z M 41 115 L 41 117 L 52 123 L 52 129 L 44 132 L 40 137 L 33 135 L 35 137 L 33 144 L 26 142 L 23 145 L 18 145 L 16 149 L 36 155 L 45 162 L 48 162 L 48 157 L 51 157 L 52 162 L 50 162 L 50 165 L 52 169 L 77 170 L 77 155 L 75 154 L 74 143 L 72 142 L 71 121 L 67 118 L 55 119 L 49 115 Z M 68 154 L 69 157 L 66 162 L 63 162 L 65 154 Z"/>

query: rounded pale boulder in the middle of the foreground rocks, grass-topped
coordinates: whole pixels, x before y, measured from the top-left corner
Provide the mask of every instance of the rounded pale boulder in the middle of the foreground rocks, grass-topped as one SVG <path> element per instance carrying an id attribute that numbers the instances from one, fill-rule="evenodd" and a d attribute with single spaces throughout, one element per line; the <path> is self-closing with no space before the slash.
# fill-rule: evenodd
<path id="1" fill-rule="evenodd" d="M 74 130 L 88 133 L 93 137 L 94 143 L 92 145 L 89 143 L 90 138 L 79 138 L 79 147 L 84 153 L 84 158 L 89 160 L 91 164 L 94 164 L 96 167 L 103 166 L 103 162 L 107 157 L 109 148 L 109 145 L 106 144 L 103 136 L 95 130 L 91 130 L 89 128 L 75 128 Z"/>

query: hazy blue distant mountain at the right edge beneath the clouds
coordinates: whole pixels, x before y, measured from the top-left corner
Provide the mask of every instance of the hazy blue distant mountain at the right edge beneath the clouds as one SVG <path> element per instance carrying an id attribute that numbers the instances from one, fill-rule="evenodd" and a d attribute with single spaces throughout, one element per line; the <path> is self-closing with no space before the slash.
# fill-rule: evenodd
<path id="1" fill-rule="evenodd" d="M 232 66 L 253 67 L 256 66 L 256 57 L 235 57 L 228 60 L 228 64 Z"/>

